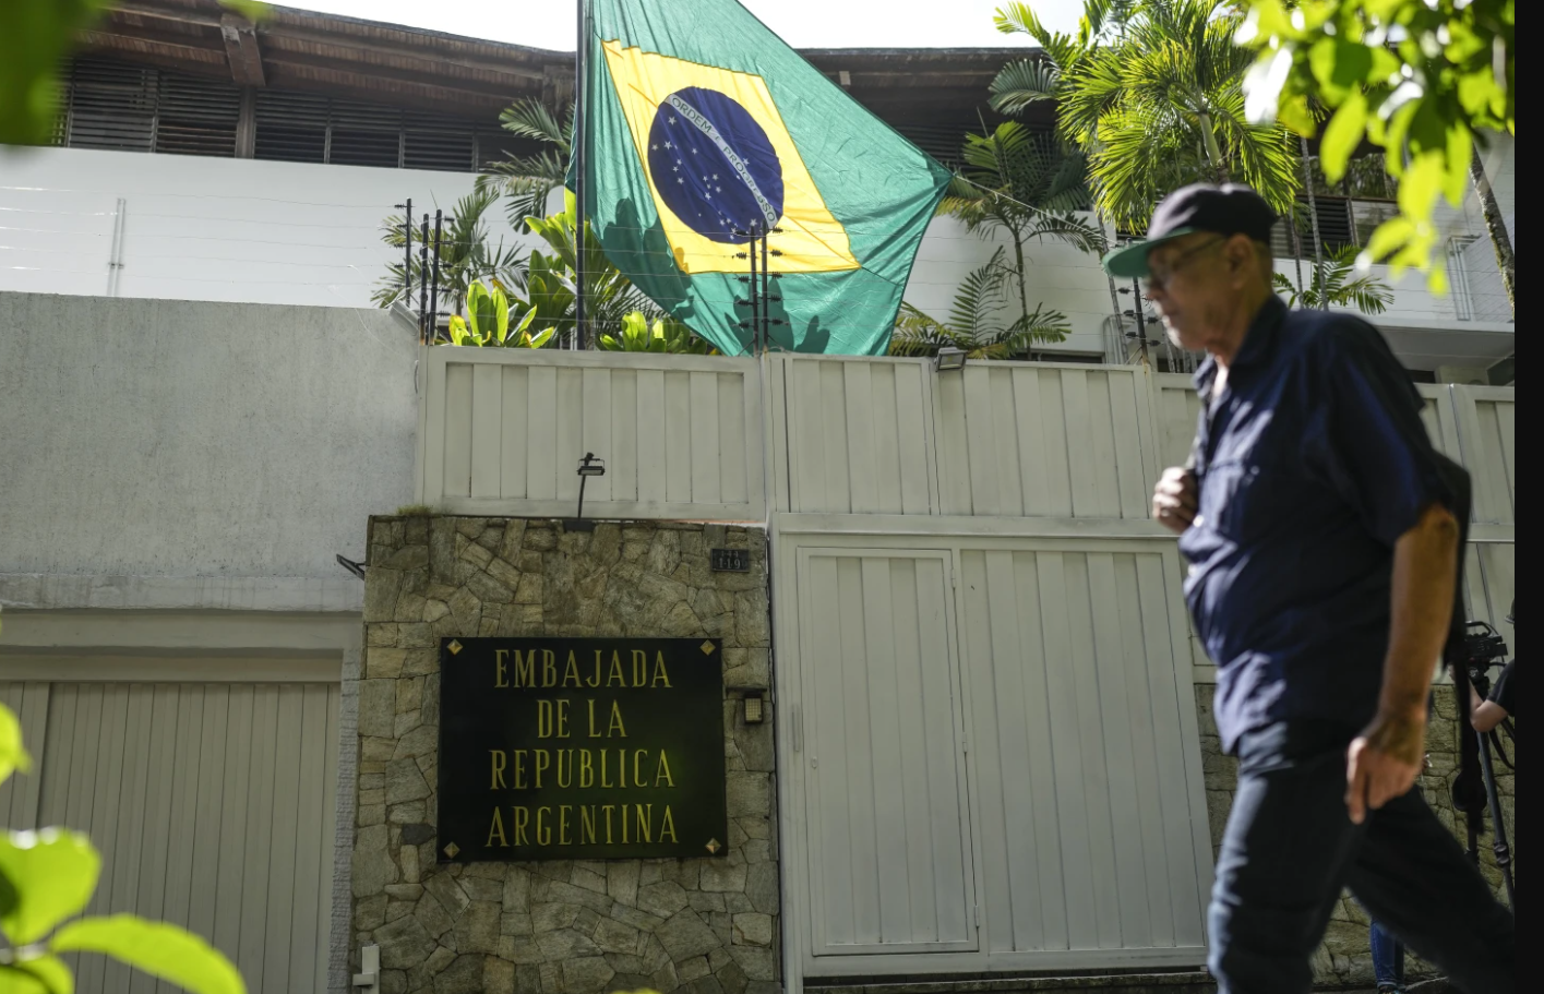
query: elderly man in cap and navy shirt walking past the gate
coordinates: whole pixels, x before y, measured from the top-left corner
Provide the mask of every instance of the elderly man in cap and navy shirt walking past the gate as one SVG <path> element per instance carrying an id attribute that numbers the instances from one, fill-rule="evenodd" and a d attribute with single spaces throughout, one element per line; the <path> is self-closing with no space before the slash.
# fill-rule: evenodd
<path id="1" fill-rule="evenodd" d="M 1274 221 L 1246 187 L 1186 187 L 1104 261 L 1209 353 L 1189 465 L 1164 472 L 1153 516 L 1190 563 L 1238 756 L 1212 974 L 1224 992 L 1308 991 L 1349 886 L 1465 991 L 1512 991 L 1512 912 L 1411 790 L 1454 593 L 1450 477 L 1377 330 L 1272 293 Z"/>

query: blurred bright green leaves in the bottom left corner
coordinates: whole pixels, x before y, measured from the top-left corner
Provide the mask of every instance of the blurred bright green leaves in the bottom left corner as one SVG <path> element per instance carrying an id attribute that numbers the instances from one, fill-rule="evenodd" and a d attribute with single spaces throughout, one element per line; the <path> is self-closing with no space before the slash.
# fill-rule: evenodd
<path id="1" fill-rule="evenodd" d="M 0 781 L 28 767 L 19 730 L 15 715 L 0 704 Z M 102 857 L 80 832 L 0 837 L 0 989 L 71 994 L 74 975 L 57 954 L 105 952 L 195 994 L 245 994 L 222 952 L 174 925 L 111 915 L 60 926 L 90 903 L 100 871 Z"/>

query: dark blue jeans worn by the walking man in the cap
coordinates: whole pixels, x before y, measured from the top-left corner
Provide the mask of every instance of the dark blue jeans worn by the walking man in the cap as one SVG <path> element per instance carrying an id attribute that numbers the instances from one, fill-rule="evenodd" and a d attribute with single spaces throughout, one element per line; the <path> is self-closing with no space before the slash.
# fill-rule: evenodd
<path id="1" fill-rule="evenodd" d="M 1382 928 L 1468 994 L 1516 989 L 1516 925 L 1458 840 L 1411 790 L 1356 826 L 1345 750 L 1356 732 L 1278 722 L 1238 744 L 1238 790 L 1212 888 L 1220 994 L 1305 994 L 1349 888 Z"/>

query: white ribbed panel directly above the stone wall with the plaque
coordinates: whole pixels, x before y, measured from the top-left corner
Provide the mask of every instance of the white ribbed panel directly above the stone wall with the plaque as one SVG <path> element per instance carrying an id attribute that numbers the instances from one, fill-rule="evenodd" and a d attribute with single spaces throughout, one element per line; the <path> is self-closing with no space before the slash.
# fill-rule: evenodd
<path id="1" fill-rule="evenodd" d="M 420 499 L 455 514 L 763 520 L 760 370 L 723 357 L 440 346 Z"/>

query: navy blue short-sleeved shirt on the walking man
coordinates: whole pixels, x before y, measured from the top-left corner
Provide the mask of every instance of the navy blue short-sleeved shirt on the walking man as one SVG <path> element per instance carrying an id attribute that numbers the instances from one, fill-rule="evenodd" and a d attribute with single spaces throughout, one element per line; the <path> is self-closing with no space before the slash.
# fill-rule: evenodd
<path id="1" fill-rule="evenodd" d="M 1394 542 L 1453 506 L 1420 395 L 1366 321 L 1272 298 L 1220 395 L 1201 394 L 1200 512 L 1180 537 L 1217 664 L 1223 749 L 1272 721 L 1360 729 L 1377 710 Z"/>

